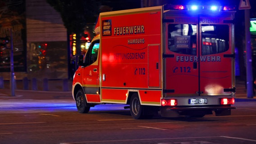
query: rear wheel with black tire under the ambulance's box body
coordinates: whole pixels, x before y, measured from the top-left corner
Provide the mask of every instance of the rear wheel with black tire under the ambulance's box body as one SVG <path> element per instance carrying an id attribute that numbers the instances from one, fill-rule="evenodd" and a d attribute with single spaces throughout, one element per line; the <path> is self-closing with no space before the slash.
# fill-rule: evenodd
<path id="1" fill-rule="evenodd" d="M 133 94 L 130 100 L 130 111 L 131 115 L 134 119 L 142 119 L 143 118 L 143 108 L 140 103 L 140 99 L 138 94 Z"/>

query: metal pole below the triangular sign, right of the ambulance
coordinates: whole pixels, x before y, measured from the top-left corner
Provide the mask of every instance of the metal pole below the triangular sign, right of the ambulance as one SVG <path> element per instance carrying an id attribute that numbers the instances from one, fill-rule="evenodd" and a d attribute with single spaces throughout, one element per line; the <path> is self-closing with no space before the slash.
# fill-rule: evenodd
<path id="1" fill-rule="evenodd" d="M 251 65 L 252 59 L 251 59 L 250 9 L 244 10 L 244 17 L 245 17 L 247 98 L 253 98 L 252 65 Z"/>

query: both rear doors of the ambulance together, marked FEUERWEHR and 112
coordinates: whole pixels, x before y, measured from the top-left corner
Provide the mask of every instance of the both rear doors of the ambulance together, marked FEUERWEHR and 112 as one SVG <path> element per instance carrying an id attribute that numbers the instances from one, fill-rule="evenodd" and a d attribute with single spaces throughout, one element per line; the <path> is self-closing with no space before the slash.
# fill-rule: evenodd
<path id="1" fill-rule="evenodd" d="M 231 24 L 215 17 L 166 17 L 165 89 L 167 95 L 230 95 Z"/>

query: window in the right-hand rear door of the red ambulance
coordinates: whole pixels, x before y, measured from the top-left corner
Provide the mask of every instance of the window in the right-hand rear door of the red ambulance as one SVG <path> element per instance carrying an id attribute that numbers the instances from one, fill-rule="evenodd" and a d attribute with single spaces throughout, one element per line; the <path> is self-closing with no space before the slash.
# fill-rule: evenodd
<path id="1" fill-rule="evenodd" d="M 202 55 L 219 54 L 229 49 L 228 25 L 202 25 Z"/>

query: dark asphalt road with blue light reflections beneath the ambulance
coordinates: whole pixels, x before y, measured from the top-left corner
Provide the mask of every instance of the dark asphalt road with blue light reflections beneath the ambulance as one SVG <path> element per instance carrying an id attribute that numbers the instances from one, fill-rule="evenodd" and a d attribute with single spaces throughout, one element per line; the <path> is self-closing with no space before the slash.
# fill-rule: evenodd
<path id="1" fill-rule="evenodd" d="M 123 106 L 80 114 L 72 99 L 1 99 L 0 144 L 256 144 L 256 101 L 203 118 L 134 120 Z"/>

